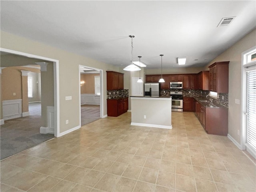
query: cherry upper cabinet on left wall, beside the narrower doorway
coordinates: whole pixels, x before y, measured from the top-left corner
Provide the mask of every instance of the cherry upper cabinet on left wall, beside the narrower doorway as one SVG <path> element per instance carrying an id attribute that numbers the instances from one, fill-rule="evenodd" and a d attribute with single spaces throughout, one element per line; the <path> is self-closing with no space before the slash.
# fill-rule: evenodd
<path id="1" fill-rule="evenodd" d="M 124 89 L 124 74 L 107 71 L 107 90 Z"/>

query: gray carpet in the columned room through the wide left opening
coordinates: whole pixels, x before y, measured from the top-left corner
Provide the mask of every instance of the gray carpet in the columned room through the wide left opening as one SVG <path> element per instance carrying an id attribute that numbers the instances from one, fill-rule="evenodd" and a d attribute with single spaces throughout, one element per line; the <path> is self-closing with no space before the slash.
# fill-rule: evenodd
<path id="1" fill-rule="evenodd" d="M 6 120 L 1 126 L 1 160 L 54 138 L 53 134 L 40 134 L 41 104 L 30 104 L 29 112 L 31 116 Z"/>

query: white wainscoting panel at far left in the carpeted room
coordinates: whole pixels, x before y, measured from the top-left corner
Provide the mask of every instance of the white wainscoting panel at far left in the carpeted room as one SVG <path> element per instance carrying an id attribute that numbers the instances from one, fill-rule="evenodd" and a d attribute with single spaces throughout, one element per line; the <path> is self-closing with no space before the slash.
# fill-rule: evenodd
<path id="1" fill-rule="evenodd" d="M 22 99 L 5 100 L 3 104 L 3 119 L 22 117 Z"/>

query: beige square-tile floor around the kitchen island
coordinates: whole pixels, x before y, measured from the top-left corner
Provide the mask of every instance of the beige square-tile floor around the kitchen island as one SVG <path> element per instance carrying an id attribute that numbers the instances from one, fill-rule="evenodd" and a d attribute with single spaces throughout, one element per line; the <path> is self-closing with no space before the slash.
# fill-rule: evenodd
<path id="1" fill-rule="evenodd" d="M 255 192 L 255 164 L 193 113 L 172 130 L 107 117 L 1 161 L 1 191 Z"/>

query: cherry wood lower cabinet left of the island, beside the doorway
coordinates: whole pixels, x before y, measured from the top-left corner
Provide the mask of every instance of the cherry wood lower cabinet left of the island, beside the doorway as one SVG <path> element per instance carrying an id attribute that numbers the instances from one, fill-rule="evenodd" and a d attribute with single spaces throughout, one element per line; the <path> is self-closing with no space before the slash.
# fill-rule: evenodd
<path id="1" fill-rule="evenodd" d="M 128 110 L 128 98 L 108 99 L 108 116 L 117 117 Z"/>

